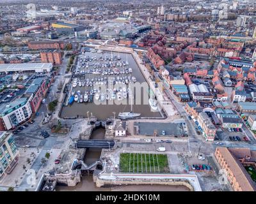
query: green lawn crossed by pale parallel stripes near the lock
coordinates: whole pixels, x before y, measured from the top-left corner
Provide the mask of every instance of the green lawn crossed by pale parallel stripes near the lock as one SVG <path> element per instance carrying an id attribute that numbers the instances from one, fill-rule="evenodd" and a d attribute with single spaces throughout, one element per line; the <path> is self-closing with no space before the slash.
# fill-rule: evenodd
<path id="1" fill-rule="evenodd" d="M 121 153 L 120 171 L 126 173 L 169 173 L 166 154 Z"/>

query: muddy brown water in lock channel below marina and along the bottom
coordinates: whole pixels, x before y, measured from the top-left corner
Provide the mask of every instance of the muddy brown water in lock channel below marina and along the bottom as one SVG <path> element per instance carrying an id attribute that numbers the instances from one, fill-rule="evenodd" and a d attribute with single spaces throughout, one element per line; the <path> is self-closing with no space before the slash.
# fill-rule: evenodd
<path id="1" fill-rule="evenodd" d="M 105 130 L 95 129 L 91 139 L 104 139 Z M 100 158 L 101 149 L 90 148 L 86 150 L 84 163 L 91 164 Z M 189 191 L 186 186 L 165 186 L 165 185 L 131 185 L 115 187 L 96 187 L 92 175 L 83 175 L 81 182 L 77 186 L 57 186 L 56 191 Z"/>

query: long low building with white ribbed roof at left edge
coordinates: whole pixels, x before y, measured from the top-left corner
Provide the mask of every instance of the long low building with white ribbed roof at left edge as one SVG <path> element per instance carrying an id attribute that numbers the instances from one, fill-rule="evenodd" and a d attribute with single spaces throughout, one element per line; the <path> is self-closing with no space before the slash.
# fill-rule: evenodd
<path id="1" fill-rule="evenodd" d="M 22 63 L 22 64 L 0 64 L 0 72 L 10 73 L 15 71 L 50 72 L 52 63 Z"/>

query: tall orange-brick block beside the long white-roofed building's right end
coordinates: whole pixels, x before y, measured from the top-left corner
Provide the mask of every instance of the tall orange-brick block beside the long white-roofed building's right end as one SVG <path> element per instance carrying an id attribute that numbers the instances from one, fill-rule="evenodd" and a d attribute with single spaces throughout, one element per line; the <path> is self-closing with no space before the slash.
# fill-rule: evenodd
<path id="1" fill-rule="evenodd" d="M 60 65 L 62 62 L 61 52 L 58 50 L 45 50 L 40 52 L 42 62 L 52 62 L 52 64 Z"/>

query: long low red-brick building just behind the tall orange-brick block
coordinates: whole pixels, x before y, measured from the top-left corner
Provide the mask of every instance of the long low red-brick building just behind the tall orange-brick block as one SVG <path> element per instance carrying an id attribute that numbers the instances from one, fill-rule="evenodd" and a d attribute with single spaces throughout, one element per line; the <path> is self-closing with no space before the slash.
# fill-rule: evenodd
<path id="1" fill-rule="evenodd" d="M 63 41 L 29 41 L 28 48 L 31 50 L 40 49 L 64 49 L 65 43 Z"/>

